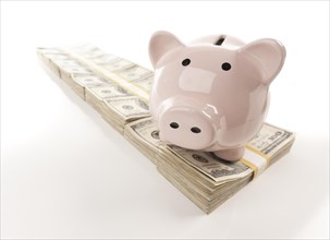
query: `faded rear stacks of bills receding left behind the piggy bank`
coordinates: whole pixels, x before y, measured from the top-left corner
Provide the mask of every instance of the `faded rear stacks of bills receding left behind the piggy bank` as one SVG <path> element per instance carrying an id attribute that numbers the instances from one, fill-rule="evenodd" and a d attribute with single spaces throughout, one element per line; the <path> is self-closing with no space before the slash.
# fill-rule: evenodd
<path id="1" fill-rule="evenodd" d="M 152 71 L 89 45 L 66 49 L 38 48 L 37 53 L 53 73 L 120 133 L 123 134 L 127 122 L 149 116 L 147 99 L 138 93 L 149 93 Z"/>

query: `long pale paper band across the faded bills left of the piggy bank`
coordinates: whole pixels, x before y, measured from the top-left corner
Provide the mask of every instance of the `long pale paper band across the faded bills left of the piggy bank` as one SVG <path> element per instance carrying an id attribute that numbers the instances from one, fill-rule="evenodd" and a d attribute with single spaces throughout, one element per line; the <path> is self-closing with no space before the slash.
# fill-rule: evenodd
<path id="1" fill-rule="evenodd" d="M 124 80 L 123 77 L 117 75 L 115 73 L 96 64 L 95 62 L 82 57 L 81 55 L 78 55 L 70 49 L 64 49 L 64 51 L 68 52 L 71 57 L 81 61 L 86 67 L 90 68 L 94 72 L 98 73 L 100 76 L 117 83 L 118 85 L 123 87 L 125 91 L 127 91 L 132 95 L 135 95 L 135 96 L 142 98 L 143 100 L 145 100 L 146 103 L 148 103 L 149 94 L 147 93 L 147 91 L 145 88 L 143 88 L 134 83 L 131 83 L 127 80 Z"/>

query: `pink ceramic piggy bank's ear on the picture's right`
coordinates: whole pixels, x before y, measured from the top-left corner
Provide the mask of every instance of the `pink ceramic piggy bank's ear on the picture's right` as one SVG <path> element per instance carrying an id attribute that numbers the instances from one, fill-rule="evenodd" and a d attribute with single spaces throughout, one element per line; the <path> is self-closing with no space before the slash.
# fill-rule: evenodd
<path id="1" fill-rule="evenodd" d="M 261 82 L 270 84 L 281 71 L 285 48 L 274 39 L 260 39 L 245 45 L 239 49 L 239 56 L 243 61 L 252 61 L 260 70 Z"/>

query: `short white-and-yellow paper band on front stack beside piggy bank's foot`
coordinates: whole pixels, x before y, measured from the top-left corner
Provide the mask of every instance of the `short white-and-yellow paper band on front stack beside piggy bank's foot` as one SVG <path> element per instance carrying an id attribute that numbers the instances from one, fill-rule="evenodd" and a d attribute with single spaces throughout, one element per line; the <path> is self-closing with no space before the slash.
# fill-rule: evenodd
<path id="1" fill-rule="evenodd" d="M 245 153 L 240 163 L 246 165 L 254 171 L 254 179 L 258 177 L 269 165 L 270 158 L 261 152 L 245 145 Z"/>

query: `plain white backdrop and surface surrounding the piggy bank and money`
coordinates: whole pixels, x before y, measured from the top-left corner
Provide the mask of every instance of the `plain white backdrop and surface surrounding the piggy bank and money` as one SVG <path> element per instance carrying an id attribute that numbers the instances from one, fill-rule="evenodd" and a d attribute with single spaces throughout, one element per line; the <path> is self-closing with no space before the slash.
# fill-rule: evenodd
<path id="1" fill-rule="evenodd" d="M 288 50 L 268 122 L 289 155 L 210 215 L 58 79 L 35 48 L 89 43 L 151 69 L 183 41 L 272 37 Z M 1 2 L 2 238 L 329 238 L 329 2 Z"/>

